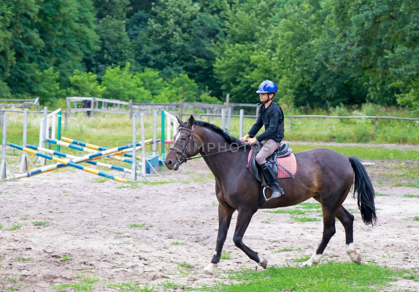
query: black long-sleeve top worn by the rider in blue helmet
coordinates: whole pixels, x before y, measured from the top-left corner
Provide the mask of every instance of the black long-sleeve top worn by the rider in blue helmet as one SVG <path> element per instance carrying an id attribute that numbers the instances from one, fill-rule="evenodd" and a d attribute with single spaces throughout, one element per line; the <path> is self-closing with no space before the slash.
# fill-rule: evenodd
<path id="1" fill-rule="evenodd" d="M 284 113 L 282 108 L 275 102 L 265 108 L 263 105 L 256 123 L 248 132 L 249 136 L 253 138 L 257 132 L 265 126 L 265 131 L 256 137 L 258 142 L 272 139 L 276 142 L 281 142 L 284 138 Z"/>

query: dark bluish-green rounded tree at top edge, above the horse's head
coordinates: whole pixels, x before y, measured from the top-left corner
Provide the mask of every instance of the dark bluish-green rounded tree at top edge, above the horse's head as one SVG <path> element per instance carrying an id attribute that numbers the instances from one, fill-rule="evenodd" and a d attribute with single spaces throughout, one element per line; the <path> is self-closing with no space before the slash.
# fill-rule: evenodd
<path id="1" fill-rule="evenodd" d="M 158 69 L 164 79 L 188 74 L 202 88 L 220 92 L 209 47 L 222 36 L 220 10 L 228 3 L 216 2 L 215 8 L 209 1 L 157 0 L 150 10 L 134 14 L 128 33 L 138 64 Z"/>

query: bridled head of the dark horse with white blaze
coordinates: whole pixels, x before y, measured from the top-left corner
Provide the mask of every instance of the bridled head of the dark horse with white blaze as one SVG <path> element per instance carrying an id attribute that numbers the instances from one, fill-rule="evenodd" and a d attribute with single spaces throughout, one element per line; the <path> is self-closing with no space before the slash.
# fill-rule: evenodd
<path id="1" fill-rule="evenodd" d="M 179 166 L 187 161 L 187 158 L 198 154 L 198 149 L 195 147 L 194 117 L 191 115 L 186 124 L 178 117 L 176 118 L 179 123 L 178 132 L 173 137 L 173 145 L 164 161 L 166 167 L 171 170 L 178 170 Z"/>

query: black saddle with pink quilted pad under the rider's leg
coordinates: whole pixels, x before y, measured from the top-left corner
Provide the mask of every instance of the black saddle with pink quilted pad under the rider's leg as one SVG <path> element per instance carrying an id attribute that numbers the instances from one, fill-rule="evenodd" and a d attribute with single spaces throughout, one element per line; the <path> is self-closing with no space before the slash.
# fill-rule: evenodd
<path id="1" fill-rule="evenodd" d="M 253 173 L 253 175 L 256 177 L 259 182 L 263 182 L 262 179 L 262 170 L 259 164 L 256 163 L 256 154 L 259 152 L 259 150 L 262 148 L 261 144 L 255 143 L 252 146 L 252 149 L 249 153 L 248 158 L 248 164 L 247 167 L 250 169 L 250 171 Z M 268 163 L 269 167 L 272 169 L 272 172 L 274 173 L 274 177 L 277 178 L 284 178 L 284 177 L 294 177 L 295 172 L 297 171 L 297 166 L 295 163 L 295 156 L 292 154 L 292 157 L 290 157 L 290 161 L 284 161 L 287 162 L 285 164 L 289 164 L 290 170 L 286 169 L 280 162 L 282 162 L 284 157 L 290 156 L 292 154 L 292 149 L 289 147 L 288 142 L 281 143 L 281 146 L 275 152 L 266 158 L 266 162 Z M 278 169 L 280 169 L 280 174 L 278 173 Z M 279 174 L 279 175 L 278 175 Z"/>

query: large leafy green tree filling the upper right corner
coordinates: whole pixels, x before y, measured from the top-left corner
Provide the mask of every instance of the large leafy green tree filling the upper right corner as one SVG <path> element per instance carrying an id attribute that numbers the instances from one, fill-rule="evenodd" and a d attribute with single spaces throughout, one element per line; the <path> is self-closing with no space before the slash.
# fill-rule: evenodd
<path id="1" fill-rule="evenodd" d="M 335 71 L 365 88 L 369 100 L 393 104 L 417 98 L 419 3 L 414 0 L 325 0 Z M 416 69 L 415 69 L 416 68 Z M 406 97 L 406 98 L 405 98 Z"/>

